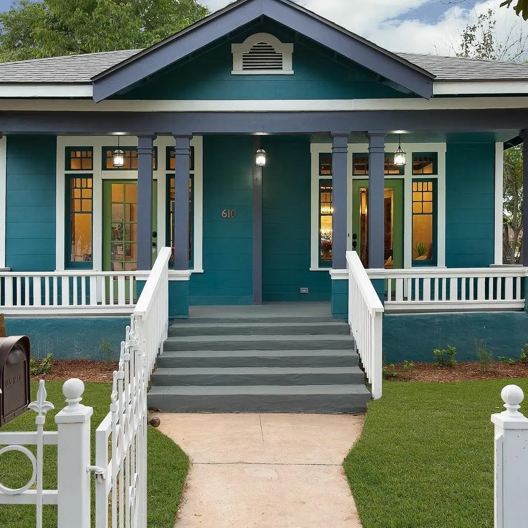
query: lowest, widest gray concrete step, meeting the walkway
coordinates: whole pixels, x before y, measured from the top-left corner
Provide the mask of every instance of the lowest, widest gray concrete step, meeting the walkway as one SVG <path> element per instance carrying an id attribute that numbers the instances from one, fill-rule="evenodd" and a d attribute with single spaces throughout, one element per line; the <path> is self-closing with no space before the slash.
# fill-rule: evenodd
<path id="1" fill-rule="evenodd" d="M 360 413 L 371 395 L 355 385 L 153 386 L 147 403 L 165 412 Z"/>

